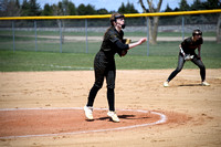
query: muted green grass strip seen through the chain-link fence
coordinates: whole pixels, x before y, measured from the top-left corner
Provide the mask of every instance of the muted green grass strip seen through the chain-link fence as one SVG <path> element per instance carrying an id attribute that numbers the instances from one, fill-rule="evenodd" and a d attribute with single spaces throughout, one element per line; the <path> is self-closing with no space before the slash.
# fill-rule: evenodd
<path id="1" fill-rule="evenodd" d="M 13 51 L 11 42 L 0 42 L 0 50 Z M 88 42 L 88 53 L 95 54 L 101 49 L 102 42 Z M 147 44 L 144 43 L 129 51 L 129 55 L 144 55 L 147 53 L 155 56 L 172 56 L 178 54 L 180 42 L 158 42 L 156 45 L 149 45 L 147 51 Z M 38 51 L 42 52 L 60 52 L 60 41 L 45 40 L 38 41 Z M 202 56 L 207 57 L 220 57 L 221 44 L 215 42 L 204 42 L 202 45 Z M 35 41 L 15 41 L 15 51 L 35 51 Z M 86 53 L 85 42 L 65 42 L 62 44 L 63 53 Z"/>

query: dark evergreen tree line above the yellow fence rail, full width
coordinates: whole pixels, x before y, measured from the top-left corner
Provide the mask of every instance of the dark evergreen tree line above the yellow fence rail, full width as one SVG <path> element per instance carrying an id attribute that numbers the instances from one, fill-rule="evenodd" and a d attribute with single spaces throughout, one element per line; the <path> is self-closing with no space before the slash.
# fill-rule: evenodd
<path id="1" fill-rule="evenodd" d="M 220 9 L 220 0 L 194 0 L 191 6 L 187 3 L 187 0 L 181 0 L 179 8 L 171 9 L 167 4 L 165 12 L 173 11 L 191 11 L 191 10 L 211 10 Z M 149 12 L 149 10 L 146 10 Z M 93 4 L 80 4 L 76 7 L 71 0 L 61 0 L 54 4 L 44 4 L 41 8 L 36 0 L 1 0 L 0 1 L 0 17 L 33 17 L 33 15 L 86 15 L 86 14 L 108 14 L 114 11 L 107 11 L 105 8 L 96 10 Z M 120 13 L 138 13 L 134 3 L 123 2 L 118 8 Z"/>

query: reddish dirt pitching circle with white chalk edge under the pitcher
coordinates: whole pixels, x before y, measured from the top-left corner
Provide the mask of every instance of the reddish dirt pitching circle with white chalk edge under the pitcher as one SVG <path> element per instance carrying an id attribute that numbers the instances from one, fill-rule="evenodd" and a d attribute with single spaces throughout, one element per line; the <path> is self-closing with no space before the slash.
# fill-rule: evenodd
<path id="1" fill-rule="evenodd" d="M 122 109 L 117 111 L 120 123 L 114 123 L 106 115 L 107 109 L 94 109 L 94 120 L 85 119 L 81 108 L 32 108 L 0 111 L 0 137 L 56 136 L 62 134 L 82 134 L 110 132 L 119 129 L 151 126 L 164 123 L 182 123 L 183 115 Z M 181 118 L 181 119 L 180 119 Z"/>

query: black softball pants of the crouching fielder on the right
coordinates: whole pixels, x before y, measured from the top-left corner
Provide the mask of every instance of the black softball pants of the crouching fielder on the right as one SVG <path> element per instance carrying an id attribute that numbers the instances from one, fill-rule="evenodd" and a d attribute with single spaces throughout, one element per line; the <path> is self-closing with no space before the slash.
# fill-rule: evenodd
<path id="1" fill-rule="evenodd" d="M 183 67 L 185 65 L 185 57 L 179 54 L 178 57 L 178 66 L 177 69 L 169 75 L 168 77 L 168 82 L 170 82 Z M 194 57 L 191 60 L 192 63 L 194 63 L 199 69 L 200 69 L 200 76 L 202 82 L 206 80 L 206 67 L 204 64 L 202 63 L 202 61 L 197 56 L 197 54 L 194 54 Z"/>

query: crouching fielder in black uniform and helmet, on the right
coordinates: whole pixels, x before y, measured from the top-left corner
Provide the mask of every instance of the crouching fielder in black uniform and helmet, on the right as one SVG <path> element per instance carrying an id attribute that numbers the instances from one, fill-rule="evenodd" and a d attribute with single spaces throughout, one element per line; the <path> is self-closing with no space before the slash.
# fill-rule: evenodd
<path id="1" fill-rule="evenodd" d="M 178 66 L 177 69 L 170 74 L 168 80 L 164 83 L 165 87 L 169 86 L 169 82 L 182 70 L 183 64 L 186 61 L 191 61 L 200 69 L 201 75 L 201 85 L 209 86 L 210 84 L 206 82 L 206 67 L 201 60 L 201 44 L 203 43 L 202 32 L 197 29 L 193 30 L 192 36 L 183 40 L 180 45 L 180 52 L 178 57 Z M 196 54 L 194 50 L 198 49 L 198 54 Z"/>

